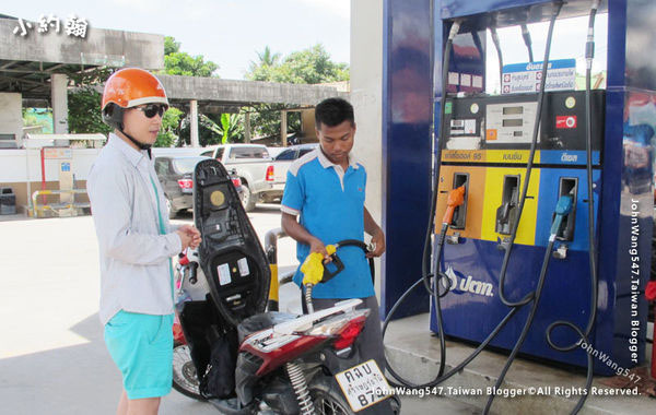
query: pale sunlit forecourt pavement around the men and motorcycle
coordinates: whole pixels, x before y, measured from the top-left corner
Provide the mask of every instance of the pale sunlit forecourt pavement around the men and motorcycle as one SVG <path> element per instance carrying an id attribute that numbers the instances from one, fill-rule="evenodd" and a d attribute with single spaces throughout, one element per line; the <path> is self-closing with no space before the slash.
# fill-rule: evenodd
<path id="1" fill-rule="evenodd" d="M 278 205 L 250 215 L 260 238 L 280 226 Z M 105 348 L 98 309 L 97 244 L 92 218 L 26 220 L 0 216 L 0 413 L 113 414 L 120 376 Z M 191 215 L 177 220 L 190 223 Z M 279 266 L 295 266 L 294 245 L 279 245 Z M 298 309 L 293 285 L 281 309 Z M 469 414 L 447 400 L 403 400 L 405 414 Z M 161 414 L 216 414 L 173 391 Z"/>

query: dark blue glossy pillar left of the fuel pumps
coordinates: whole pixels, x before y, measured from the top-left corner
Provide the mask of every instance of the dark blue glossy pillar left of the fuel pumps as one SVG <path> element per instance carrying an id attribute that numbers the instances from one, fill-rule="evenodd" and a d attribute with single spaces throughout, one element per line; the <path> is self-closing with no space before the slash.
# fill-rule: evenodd
<path id="1" fill-rule="evenodd" d="M 383 226 L 380 308 L 386 315 L 421 277 L 431 205 L 432 0 L 386 0 L 383 40 Z M 427 311 L 421 290 L 398 317 Z"/>

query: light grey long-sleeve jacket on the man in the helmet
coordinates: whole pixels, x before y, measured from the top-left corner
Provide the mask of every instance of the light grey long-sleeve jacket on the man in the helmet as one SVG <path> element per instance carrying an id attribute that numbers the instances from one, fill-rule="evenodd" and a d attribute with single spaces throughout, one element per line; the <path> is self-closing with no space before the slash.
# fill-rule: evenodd
<path id="1" fill-rule="evenodd" d="M 91 168 L 86 189 L 98 238 L 103 324 L 121 309 L 172 313 L 169 261 L 180 251 L 181 241 L 168 224 L 164 191 L 147 152 L 109 134 Z M 160 217 L 164 235 L 160 235 Z"/>

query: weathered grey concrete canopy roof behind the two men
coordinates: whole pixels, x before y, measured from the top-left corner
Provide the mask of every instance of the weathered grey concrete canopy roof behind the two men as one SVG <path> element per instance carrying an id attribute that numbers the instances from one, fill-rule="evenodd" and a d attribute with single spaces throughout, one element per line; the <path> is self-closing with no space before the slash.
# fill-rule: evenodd
<path id="1" fill-rule="evenodd" d="M 7 17 L 7 19 L 2 19 Z M 65 33 L 38 33 L 36 22 L 26 36 L 14 34 L 19 20 L 0 15 L 0 92 L 23 99 L 50 99 L 50 75 L 81 73 L 98 67 L 164 68 L 164 36 L 89 27 L 85 38 Z M 331 96 L 347 97 L 333 86 L 278 84 L 219 78 L 157 74 L 176 106 L 198 102 L 201 112 L 236 112 L 254 104 L 314 106 Z"/>

